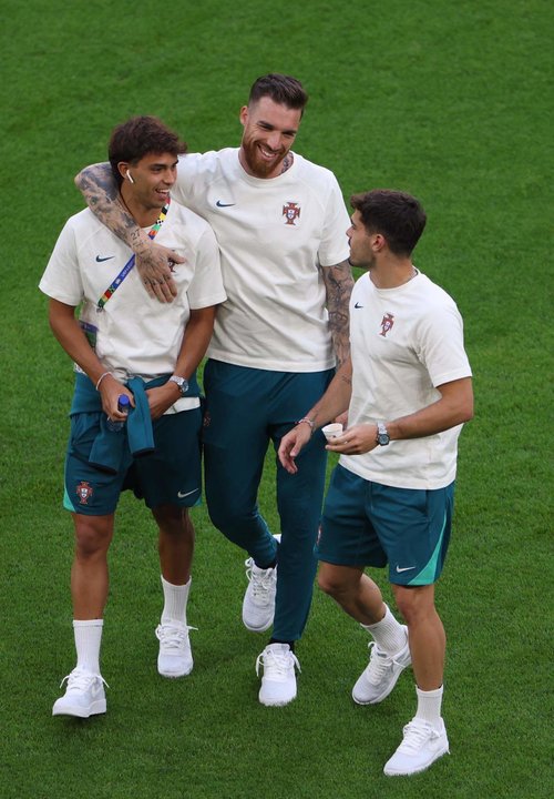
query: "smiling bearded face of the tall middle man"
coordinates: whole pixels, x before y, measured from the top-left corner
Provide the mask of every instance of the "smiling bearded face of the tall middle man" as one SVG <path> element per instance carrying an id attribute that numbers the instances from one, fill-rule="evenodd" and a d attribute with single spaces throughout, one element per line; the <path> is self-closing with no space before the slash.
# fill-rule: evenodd
<path id="1" fill-rule="evenodd" d="M 301 110 L 263 97 L 240 111 L 243 141 L 240 163 L 255 178 L 276 178 L 283 161 L 294 144 L 300 124 Z"/>

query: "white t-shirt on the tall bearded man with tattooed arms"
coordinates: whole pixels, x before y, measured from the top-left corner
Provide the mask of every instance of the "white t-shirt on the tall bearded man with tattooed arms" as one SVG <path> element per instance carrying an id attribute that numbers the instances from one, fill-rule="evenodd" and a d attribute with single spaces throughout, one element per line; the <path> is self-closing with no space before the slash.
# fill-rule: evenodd
<path id="1" fill-rule="evenodd" d="M 332 172 L 301 155 L 284 174 L 248 175 L 238 149 L 184 155 L 172 189 L 209 222 L 227 301 L 208 355 L 284 372 L 335 365 L 321 267 L 348 257 L 350 225 Z"/>

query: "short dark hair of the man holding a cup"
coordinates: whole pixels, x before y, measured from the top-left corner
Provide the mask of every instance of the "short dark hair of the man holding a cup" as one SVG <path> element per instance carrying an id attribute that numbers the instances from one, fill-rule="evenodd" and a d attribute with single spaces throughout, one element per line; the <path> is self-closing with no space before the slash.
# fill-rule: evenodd
<path id="1" fill-rule="evenodd" d="M 419 200 L 406 192 L 373 189 L 352 194 L 350 204 L 360 212 L 368 233 L 382 233 L 391 252 L 396 255 L 412 253 L 427 222 Z"/>

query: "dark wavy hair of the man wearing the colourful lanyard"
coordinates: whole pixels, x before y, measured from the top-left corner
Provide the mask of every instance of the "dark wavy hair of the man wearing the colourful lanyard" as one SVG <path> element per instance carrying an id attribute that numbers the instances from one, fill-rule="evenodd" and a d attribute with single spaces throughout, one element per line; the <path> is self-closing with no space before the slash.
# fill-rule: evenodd
<path id="1" fill-rule="evenodd" d="M 123 179 L 117 170 L 120 161 L 134 164 L 148 153 L 166 152 L 176 158 L 186 150 L 186 143 L 156 117 L 133 117 L 113 129 L 107 158 L 117 184 L 121 184 Z"/>

